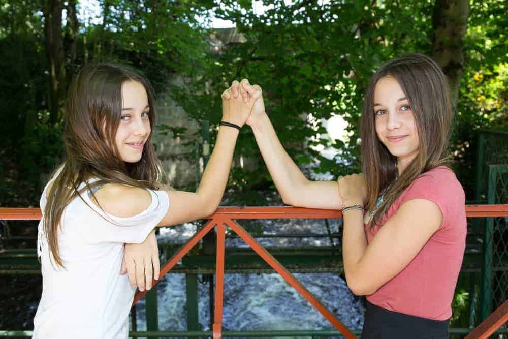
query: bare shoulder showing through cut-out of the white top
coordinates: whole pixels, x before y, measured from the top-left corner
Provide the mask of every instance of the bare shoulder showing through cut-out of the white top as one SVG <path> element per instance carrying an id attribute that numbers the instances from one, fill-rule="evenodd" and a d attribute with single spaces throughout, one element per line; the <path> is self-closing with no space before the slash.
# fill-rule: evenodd
<path id="1" fill-rule="evenodd" d="M 134 217 L 151 203 L 147 190 L 117 183 L 105 184 L 94 194 L 94 198 L 92 201 L 105 212 L 120 218 Z"/>

